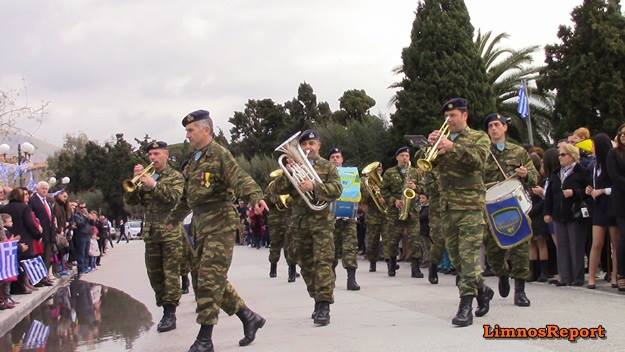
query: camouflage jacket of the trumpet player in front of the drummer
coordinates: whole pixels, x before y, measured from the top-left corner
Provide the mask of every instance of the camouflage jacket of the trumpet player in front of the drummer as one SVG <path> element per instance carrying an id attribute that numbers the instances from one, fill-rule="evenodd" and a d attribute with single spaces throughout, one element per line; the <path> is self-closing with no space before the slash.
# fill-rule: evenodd
<path id="1" fill-rule="evenodd" d="M 482 131 L 466 127 L 453 140 L 454 147 L 434 159 L 439 169 L 441 209 L 483 210 L 483 173 L 490 138 Z"/>

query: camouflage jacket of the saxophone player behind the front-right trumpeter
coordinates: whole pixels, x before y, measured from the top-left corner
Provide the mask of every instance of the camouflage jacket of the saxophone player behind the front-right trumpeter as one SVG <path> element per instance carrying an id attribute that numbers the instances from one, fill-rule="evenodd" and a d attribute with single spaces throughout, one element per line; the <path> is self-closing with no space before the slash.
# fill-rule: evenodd
<path id="1" fill-rule="evenodd" d="M 410 208 L 410 217 L 413 220 L 419 219 L 419 193 L 422 193 L 421 189 L 421 176 L 418 170 L 414 167 L 410 167 L 407 173 L 409 179 L 411 179 L 416 185 L 417 189 L 415 189 L 416 196 L 412 200 L 412 207 Z M 388 204 L 388 213 L 387 216 L 399 216 L 399 209 L 395 207 L 395 201 L 401 200 L 403 191 L 405 176 L 400 172 L 399 166 L 393 166 L 390 169 L 384 171 L 384 184 L 382 185 L 382 195 L 386 200 L 386 204 Z"/>

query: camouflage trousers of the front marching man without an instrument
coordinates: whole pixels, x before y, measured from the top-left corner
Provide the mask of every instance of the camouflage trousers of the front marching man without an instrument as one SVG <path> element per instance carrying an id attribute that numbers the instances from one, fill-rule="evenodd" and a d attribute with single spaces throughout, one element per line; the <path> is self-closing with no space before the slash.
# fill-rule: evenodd
<path id="1" fill-rule="evenodd" d="M 201 221 L 198 225 L 194 224 L 194 232 L 201 229 L 201 225 Z M 233 315 L 245 307 L 245 302 L 228 281 L 235 238 L 235 228 L 195 236 L 196 253 L 191 266 L 191 279 L 198 324 L 217 324 L 220 308 Z"/>

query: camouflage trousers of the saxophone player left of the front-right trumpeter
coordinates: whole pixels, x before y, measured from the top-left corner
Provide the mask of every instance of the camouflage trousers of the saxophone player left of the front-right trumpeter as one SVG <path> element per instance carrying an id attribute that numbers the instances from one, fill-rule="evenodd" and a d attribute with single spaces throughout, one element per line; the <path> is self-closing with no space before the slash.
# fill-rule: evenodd
<path id="1" fill-rule="evenodd" d="M 404 253 L 408 253 L 406 259 L 421 260 L 423 254 L 422 240 L 419 235 L 419 224 L 412 217 L 407 221 L 398 219 L 396 213 L 392 213 L 387 219 L 386 233 L 382 235 L 384 245 L 384 258 L 389 259 L 397 257 L 399 252 L 399 241 L 402 237 L 408 236 L 408 248 L 404 248 Z"/>

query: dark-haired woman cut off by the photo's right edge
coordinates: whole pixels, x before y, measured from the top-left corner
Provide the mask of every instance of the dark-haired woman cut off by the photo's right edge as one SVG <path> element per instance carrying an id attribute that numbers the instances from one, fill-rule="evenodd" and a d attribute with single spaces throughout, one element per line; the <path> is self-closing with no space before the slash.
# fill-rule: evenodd
<path id="1" fill-rule="evenodd" d="M 612 181 L 612 209 L 621 233 L 617 246 L 617 285 L 619 291 L 625 291 L 625 124 L 618 128 L 616 147 L 608 153 L 606 164 Z"/>

